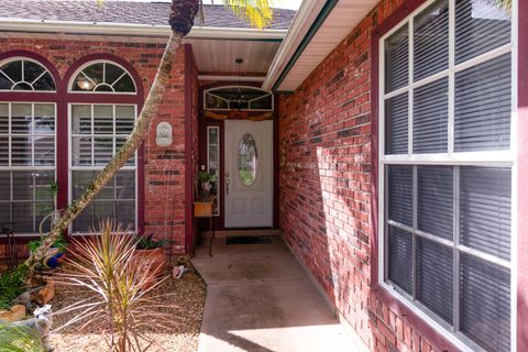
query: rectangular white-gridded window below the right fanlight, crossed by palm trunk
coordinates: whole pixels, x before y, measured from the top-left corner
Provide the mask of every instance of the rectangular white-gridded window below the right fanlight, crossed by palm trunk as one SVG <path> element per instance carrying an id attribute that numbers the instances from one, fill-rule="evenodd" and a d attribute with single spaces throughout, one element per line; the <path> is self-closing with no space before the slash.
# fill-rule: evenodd
<path id="1" fill-rule="evenodd" d="M 124 144 L 134 127 L 135 109 L 132 105 L 70 106 L 72 199 L 85 191 Z M 72 230 L 89 232 L 107 218 L 134 230 L 136 199 L 136 162 L 132 157 L 79 215 Z"/>

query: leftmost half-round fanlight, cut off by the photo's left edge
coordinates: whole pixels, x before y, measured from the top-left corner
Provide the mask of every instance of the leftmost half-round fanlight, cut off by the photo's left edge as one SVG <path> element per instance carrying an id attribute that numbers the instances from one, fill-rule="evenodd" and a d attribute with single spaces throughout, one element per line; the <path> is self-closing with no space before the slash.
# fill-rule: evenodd
<path id="1" fill-rule="evenodd" d="M 26 58 L 10 58 L 0 63 L 0 91 L 55 91 L 55 81 L 50 72 L 37 62 Z"/>

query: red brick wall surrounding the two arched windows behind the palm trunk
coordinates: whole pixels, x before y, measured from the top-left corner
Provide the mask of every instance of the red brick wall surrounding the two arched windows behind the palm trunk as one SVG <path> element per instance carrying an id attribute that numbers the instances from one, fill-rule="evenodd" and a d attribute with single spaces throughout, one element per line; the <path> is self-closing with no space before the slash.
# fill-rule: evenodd
<path id="1" fill-rule="evenodd" d="M 23 50 L 37 53 L 48 59 L 59 72 L 61 78 L 78 59 L 89 54 L 111 54 L 130 63 L 141 77 L 145 96 L 154 79 L 160 58 L 165 45 L 124 43 L 121 40 L 78 41 L 68 37 L 61 40 L 18 38 L 0 34 L 0 53 Z M 42 37 L 42 36 L 41 36 Z M 145 42 L 145 41 L 143 41 Z M 184 124 L 184 89 L 185 89 L 184 51 L 178 52 L 173 67 L 169 84 L 163 102 L 152 123 L 148 139 L 144 143 L 145 151 L 145 232 L 156 232 L 158 237 L 167 237 L 173 241 L 174 253 L 184 251 L 184 179 L 185 179 L 185 124 Z M 58 116 L 57 119 L 67 119 Z M 173 144 L 169 147 L 157 147 L 155 144 L 155 127 L 161 121 L 173 125 Z"/>

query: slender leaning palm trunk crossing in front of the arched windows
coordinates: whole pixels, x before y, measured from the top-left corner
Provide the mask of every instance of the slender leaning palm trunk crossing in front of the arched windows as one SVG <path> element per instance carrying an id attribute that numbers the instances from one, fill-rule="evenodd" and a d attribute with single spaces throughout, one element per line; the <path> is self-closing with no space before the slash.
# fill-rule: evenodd
<path id="1" fill-rule="evenodd" d="M 141 142 L 143 142 L 145 139 L 148 131 L 148 125 L 163 99 L 163 94 L 169 78 L 174 59 L 178 52 L 179 45 L 182 44 L 182 33 L 175 31 L 172 32 L 162 57 L 162 62 L 157 68 L 154 82 L 148 91 L 148 96 L 146 97 L 143 109 L 138 117 L 134 129 L 132 130 L 127 142 L 123 144 L 121 150 L 116 153 L 105 169 L 91 182 L 85 193 L 74 204 L 68 206 L 65 213 L 48 233 L 42 245 L 31 253 L 30 257 L 24 262 L 24 264 L 22 264 L 28 270 L 28 277 L 33 276 L 35 266 L 42 262 L 47 250 L 50 250 L 53 243 L 68 228 L 74 219 L 91 202 L 91 200 L 107 185 L 107 183 L 114 177 L 118 170 L 134 154 Z"/>

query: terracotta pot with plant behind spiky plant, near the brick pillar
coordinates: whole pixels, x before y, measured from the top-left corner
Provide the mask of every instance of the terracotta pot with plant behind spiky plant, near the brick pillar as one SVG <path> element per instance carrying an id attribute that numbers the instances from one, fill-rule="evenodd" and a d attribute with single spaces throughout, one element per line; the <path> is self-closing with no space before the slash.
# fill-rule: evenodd
<path id="1" fill-rule="evenodd" d="M 136 238 L 136 245 L 132 260 L 140 272 L 147 271 L 148 279 L 144 289 L 157 283 L 157 277 L 163 274 L 167 266 L 164 246 L 167 240 L 155 240 L 154 233 Z"/>

